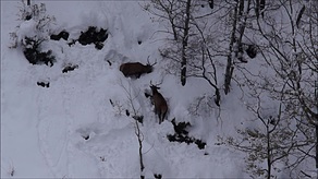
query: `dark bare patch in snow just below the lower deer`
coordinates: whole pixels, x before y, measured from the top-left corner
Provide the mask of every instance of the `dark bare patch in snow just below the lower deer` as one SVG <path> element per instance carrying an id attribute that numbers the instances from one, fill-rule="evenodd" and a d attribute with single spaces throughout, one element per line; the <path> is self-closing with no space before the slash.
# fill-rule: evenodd
<path id="1" fill-rule="evenodd" d="M 170 142 L 179 142 L 179 143 L 184 142 L 186 144 L 195 143 L 199 150 L 205 148 L 207 144 L 206 142 L 203 142 L 201 140 L 195 139 L 193 136 L 188 136 L 187 128 L 191 127 L 189 122 L 175 123 L 175 119 L 173 119 L 171 122 L 173 124 L 175 133 L 167 135 Z"/>

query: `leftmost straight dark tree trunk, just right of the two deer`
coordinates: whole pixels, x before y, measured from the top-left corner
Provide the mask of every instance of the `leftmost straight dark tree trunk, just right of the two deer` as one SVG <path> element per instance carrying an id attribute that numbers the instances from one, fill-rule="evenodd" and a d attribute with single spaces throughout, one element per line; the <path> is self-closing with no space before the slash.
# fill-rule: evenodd
<path id="1" fill-rule="evenodd" d="M 188 40 L 188 29 L 189 29 L 189 8 L 191 8 L 191 0 L 186 1 L 186 9 L 185 9 L 185 22 L 184 22 L 184 32 L 182 38 L 182 61 L 181 61 L 181 84 L 184 86 L 186 83 L 186 48 L 187 48 L 187 40 Z"/>

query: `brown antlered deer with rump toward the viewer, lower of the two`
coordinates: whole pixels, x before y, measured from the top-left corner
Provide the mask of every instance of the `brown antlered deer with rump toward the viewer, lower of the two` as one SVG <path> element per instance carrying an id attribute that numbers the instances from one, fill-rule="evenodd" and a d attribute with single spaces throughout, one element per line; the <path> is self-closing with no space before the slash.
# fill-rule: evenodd
<path id="1" fill-rule="evenodd" d="M 151 97 L 151 103 L 155 105 L 155 114 L 158 115 L 159 124 L 160 124 L 161 122 L 163 122 L 166 115 L 168 112 L 168 105 L 167 105 L 166 99 L 161 95 L 161 93 L 158 92 L 160 87 L 158 87 L 158 85 L 154 85 L 151 81 L 150 81 L 150 88 L 152 92 L 152 96 L 151 95 L 148 95 L 148 96 Z"/>

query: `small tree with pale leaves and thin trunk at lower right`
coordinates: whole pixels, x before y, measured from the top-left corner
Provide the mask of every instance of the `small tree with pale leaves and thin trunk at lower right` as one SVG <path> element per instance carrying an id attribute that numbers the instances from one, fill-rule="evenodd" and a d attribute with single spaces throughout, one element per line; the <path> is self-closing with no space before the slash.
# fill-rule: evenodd
<path id="1" fill-rule="evenodd" d="M 269 98 L 267 91 L 257 91 L 250 94 L 255 100 L 246 105 L 254 115 L 252 122 L 257 126 L 237 129 L 240 136 L 228 138 L 227 144 L 246 153 L 246 171 L 252 177 L 269 179 L 307 159 L 308 155 L 303 155 L 298 148 L 314 141 L 296 128 L 302 123 L 285 112 L 283 103 Z"/>

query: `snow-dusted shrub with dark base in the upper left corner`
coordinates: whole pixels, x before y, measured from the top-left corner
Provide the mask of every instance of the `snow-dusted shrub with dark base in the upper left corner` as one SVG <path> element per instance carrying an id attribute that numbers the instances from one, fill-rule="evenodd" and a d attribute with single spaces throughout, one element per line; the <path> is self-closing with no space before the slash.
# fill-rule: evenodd
<path id="1" fill-rule="evenodd" d="M 11 48 L 22 46 L 25 58 L 32 64 L 53 65 L 56 58 L 52 51 L 44 51 L 41 44 L 49 39 L 54 16 L 46 13 L 45 3 L 26 5 L 23 1 L 17 15 L 21 23 L 16 31 L 10 34 L 14 40 Z"/>

